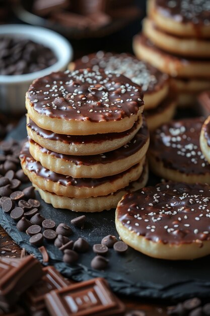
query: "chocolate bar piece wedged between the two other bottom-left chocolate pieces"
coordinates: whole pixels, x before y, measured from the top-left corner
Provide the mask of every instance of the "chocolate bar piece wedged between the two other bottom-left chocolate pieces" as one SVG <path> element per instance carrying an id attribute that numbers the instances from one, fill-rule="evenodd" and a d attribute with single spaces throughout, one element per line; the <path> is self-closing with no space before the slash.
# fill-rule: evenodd
<path id="1" fill-rule="evenodd" d="M 64 279 L 54 267 L 43 268 L 44 276 L 24 294 L 23 300 L 32 313 L 45 308 L 44 295 L 55 289 L 62 289 L 72 282 Z"/>

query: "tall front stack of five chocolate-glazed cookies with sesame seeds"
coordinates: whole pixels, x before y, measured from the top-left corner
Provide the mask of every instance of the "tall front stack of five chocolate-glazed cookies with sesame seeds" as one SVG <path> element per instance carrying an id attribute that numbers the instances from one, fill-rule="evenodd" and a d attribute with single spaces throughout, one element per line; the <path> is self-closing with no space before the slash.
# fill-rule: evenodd
<path id="1" fill-rule="evenodd" d="M 149 131 L 141 87 L 103 70 L 58 72 L 26 95 L 23 171 L 54 207 L 99 212 L 146 185 Z"/>

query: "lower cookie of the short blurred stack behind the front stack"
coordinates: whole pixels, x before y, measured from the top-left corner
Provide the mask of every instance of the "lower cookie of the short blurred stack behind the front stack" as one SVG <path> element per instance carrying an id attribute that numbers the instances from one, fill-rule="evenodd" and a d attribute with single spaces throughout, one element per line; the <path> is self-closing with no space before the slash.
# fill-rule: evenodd
<path id="1" fill-rule="evenodd" d="M 175 96 L 168 96 L 156 109 L 146 110 L 144 115 L 150 131 L 158 128 L 160 125 L 170 122 L 174 117 L 177 105 Z"/>

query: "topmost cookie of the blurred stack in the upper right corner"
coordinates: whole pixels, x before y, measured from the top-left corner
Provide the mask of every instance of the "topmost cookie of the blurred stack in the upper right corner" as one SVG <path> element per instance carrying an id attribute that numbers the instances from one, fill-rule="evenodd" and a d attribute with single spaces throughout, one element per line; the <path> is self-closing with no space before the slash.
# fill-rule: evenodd
<path id="1" fill-rule="evenodd" d="M 208 0 L 150 0 L 148 15 L 160 29 L 171 34 L 210 37 Z"/>

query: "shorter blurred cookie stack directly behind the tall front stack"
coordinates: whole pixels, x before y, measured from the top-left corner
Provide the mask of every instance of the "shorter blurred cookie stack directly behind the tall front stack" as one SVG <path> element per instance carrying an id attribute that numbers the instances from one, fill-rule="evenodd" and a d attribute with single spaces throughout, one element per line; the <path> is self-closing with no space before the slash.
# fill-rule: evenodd
<path id="1" fill-rule="evenodd" d="M 142 87 L 145 100 L 144 115 L 149 130 L 169 122 L 175 112 L 176 98 L 170 96 L 169 78 L 152 65 L 130 54 L 98 51 L 69 64 L 70 70 L 92 68 L 94 71 L 122 74 Z"/>

